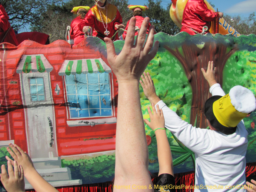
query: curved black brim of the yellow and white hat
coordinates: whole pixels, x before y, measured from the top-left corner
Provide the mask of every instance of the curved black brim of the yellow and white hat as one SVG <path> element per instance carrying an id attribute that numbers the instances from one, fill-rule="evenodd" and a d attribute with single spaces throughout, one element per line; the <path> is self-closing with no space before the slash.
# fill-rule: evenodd
<path id="1" fill-rule="evenodd" d="M 220 95 L 215 95 L 207 99 L 204 103 L 204 115 L 206 118 L 209 120 L 210 124 L 212 127 L 217 129 L 218 131 L 226 134 L 226 135 L 231 135 L 234 132 L 236 132 L 236 127 L 226 127 L 216 119 L 214 116 L 213 110 L 212 110 L 212 105 L 215 101 L 219 100 L 222 96 Z"/>

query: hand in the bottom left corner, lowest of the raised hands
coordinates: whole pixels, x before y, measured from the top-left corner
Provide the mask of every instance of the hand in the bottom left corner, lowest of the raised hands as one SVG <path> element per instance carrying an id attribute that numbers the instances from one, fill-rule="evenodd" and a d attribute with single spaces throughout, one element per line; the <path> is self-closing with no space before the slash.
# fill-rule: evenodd
<path id="1" fill-rule="evenodd" d="M 0 174 L 2 184 L 6 191 L 8 192 L 25 192 L 25 181 L 24 181 L 24 173 L 23 168 L 20 165 L 20 170 L 18 168 L 17 161 L 13 162 L 14 172 L 12 169 L 11 161 L 7 162 L 8 165 L 8 173 L 7 175 L 5 166 L 2 165 L 2 173 Z"/>

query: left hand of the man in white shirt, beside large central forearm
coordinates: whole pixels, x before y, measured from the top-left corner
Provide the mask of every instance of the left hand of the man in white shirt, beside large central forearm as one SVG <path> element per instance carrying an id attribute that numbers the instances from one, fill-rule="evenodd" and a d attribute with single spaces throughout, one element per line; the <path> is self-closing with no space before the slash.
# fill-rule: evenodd
<path id="1" fill-rule="evenodd" d="M 144 75 L 144 76 L 143 76 Z M 141 79 L 140 80 L 140 84 L 143 88 L 143 92 L 145 94 L 145 96 L 150 100 L 150 97 L 157 97 L 156 95 L 156 88 L 154 86 L 154 82 L 151 79 L 151 76 L 149 75 L 149 73 L 143 73 L 143 75 L 141 75 Z"/>

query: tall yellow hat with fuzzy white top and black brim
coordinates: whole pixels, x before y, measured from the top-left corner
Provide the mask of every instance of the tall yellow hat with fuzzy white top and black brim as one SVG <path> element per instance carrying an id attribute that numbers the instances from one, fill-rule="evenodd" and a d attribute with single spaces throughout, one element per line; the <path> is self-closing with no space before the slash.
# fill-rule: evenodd
<path id="1" fill-rule="evenodd" d="M 256 100 L 252 91 L 237 85 L 223 97 L 215 95 L 206 100 L 204 115 L 212 127 L 230 135 L 236 132 L 237 124 L 255 108 Z"/>

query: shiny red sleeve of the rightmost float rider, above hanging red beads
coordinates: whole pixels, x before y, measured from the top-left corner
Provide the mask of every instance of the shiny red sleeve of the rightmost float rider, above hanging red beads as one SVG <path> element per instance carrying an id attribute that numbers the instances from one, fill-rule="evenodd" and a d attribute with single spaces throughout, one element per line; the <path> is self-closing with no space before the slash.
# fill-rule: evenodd
<path id="1" fill-rule="evenodd" d="M 214 12 L 212 10 L 208 9 L 208 7 L 206 6 L 206 4 L 203 1 L 201 3 L 198 3 L 195 13 L 200 15 L 200 17 L 204 21 L 213 21 L 215 18 Z"/>

